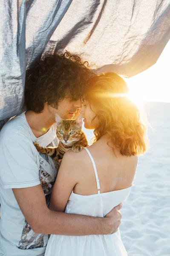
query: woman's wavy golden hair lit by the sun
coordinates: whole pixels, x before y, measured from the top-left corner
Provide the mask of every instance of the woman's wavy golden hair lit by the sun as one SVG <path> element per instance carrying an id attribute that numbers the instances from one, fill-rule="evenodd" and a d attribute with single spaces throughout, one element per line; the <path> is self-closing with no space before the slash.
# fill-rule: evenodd
<path id="1" fill-rule="evenodd" d="M 85 99 L 98 120 L 94 142 L 107 133 L 122 155 L 132 156 L 146 151 L 147 137 L 139 110 L 127 93 L 124 79 L 115 73 L 102 73 L 89 79 Z"/>

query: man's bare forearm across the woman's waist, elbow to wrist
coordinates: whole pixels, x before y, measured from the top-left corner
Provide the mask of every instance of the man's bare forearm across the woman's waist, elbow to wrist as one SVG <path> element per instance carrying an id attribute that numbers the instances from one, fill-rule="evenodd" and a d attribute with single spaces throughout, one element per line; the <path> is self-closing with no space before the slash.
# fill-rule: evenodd
<path id="1" fill-rule="evenodd" d="M 33 230 L 36 233 L 57 234 L 67 236 L 85 236 L 108 234 L 109 224 L 106 218 L 95 218 L 86 215 L 54 212 L 37 221 Z"/>

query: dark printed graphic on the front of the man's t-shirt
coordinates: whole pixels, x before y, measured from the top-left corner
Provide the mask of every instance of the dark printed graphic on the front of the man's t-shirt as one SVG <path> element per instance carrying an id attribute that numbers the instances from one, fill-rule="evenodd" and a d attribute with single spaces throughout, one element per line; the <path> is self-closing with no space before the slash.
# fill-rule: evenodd
<path id="1" fill-rule="evenodd" d="M 53 146 L 51 143 L 48 146 Z M 50 195 L 52 192 L 52 186 L 55 183 L 55 179 L 57 176 L 57 170 L 55 169 L 53 160 L 46 154 L 40 154 L 40 183 L 43 188 L 46 204 L 49 206 Z M 35 212 L 36 214 L 36 212 Z M 47 234 L 37 234 L 33 232 L 32 228 L 29 226 L 27 221 L 25 220 L 23 226 L 23 232 L 21 235 L 20 242 L 18 244 L 18 248 L 26 250 L 26 249 L 36 249 L 46 247 L 47 242 L 49 240 L 49 236 Z"/>

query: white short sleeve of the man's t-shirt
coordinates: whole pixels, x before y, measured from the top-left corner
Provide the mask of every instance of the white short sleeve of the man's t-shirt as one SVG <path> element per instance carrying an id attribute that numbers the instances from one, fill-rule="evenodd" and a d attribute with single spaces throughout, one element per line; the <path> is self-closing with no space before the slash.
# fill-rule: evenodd
<path id="1" fill-rule="evenodd" d="M 39 166 L 33 149 L 32 145 L 18 139 L 5 138 L 1 141 L 0 179 L 4 189 L 40 184 Z"/>

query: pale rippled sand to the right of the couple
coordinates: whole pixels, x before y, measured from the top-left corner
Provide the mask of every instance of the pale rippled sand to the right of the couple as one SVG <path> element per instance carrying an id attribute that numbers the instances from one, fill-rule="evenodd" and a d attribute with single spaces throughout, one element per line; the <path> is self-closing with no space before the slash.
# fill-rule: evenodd
<path id="1" fill-rule="evenodd" d="M 170 103 L 147 102 L 143 108 L 152 126 L 150 149 L 139 158 L 121 209 L 121 237 L 128 256 L 170 256 Z"/>

